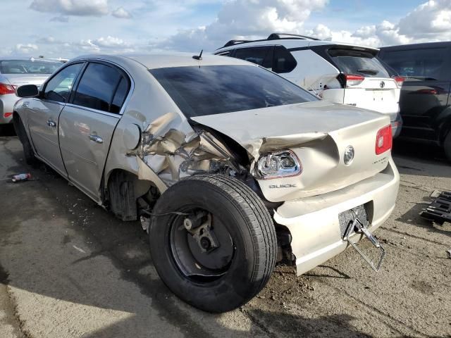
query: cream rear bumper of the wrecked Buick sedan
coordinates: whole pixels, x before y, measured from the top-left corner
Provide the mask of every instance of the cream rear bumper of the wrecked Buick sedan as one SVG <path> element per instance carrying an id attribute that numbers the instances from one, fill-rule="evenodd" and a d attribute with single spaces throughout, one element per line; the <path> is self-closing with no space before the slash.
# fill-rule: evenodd
<path id="1" fill-rule="evenodd" d="M 366 180 L 336 192 L 287 201 L 274 213 L 274 220 L 285 225 L 292 236 L 291 248 L 296 257 L 297 275 L 336 256 L 349 245 L 342 240 L 338 214 L 370 203 L 372 232 L 390 216 L 395 208 L 400 175 L 393 159 L 388 167 Z M 354 234 L 354 242 L 362 238 Z"/>

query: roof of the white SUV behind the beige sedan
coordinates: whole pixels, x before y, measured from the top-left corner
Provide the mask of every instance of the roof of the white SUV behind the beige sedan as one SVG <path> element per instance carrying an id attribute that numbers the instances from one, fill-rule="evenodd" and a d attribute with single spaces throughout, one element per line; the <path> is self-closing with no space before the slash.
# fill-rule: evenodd
<path id="1" fill-rule="evenodd" d="M 332 42 L 332 41 L 314 40 L 314 39 L 284 38 L 284 39 L 262 39 L 262 40 L 255 40 L 255 41 L 249 41 L 249 42 L 238 42 L 237 44 L 218 48 L 214 52 L 218 53 L 221 51 L 228 51 L 230 49 L 239 49 L 239 48 L 244 48 L 244 47 L 249 47 L 249 46 L 267 46 L 267 45 L 281 45 L 281 46 L 285 46 L 285 48 L 287 48 L 287 49 L 306 48 L 306 47 L 322 46 L 322 45 L 330 45 L 330 46 L 337 45 L 337 46 L 359 47 L 362 49 L 370 49 L 373 51 L 378 51 L 377 48 L 368 47 L 368 46 L 360 46 L 357 44 L 346 44 L 346 43 L 342 43 L 342 42 Z"/>

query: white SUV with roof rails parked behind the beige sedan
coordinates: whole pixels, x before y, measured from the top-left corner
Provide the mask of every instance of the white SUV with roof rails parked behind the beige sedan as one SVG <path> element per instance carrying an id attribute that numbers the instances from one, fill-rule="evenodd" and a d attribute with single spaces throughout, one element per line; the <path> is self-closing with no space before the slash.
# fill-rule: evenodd
<path id="1" fill-rule="evenodd" d="M 393 137 L 400 134 L 404 79 L 390 77 L 376 58 L 378 49 L 273 33 L 263 40 L 230 40 L 214 54 L 257 63 L 322 99 L 389 115 Z"/>

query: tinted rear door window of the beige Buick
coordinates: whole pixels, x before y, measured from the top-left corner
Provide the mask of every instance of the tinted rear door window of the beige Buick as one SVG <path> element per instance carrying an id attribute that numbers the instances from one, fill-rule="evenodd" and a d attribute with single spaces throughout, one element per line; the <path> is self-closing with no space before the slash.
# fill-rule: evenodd
<path id="1" fill-rule="evenodd" d="M 78 84 L 73 104 L 119 113 L 128 89 L 128 80 L 117 68 L 103 63 L 89 63 Z"/>

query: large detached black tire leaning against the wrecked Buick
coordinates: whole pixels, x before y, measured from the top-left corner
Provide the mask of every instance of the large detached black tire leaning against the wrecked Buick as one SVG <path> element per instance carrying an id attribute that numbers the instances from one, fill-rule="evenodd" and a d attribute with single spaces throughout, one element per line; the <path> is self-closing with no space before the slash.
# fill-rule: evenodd
<path id="1" fill-rule="evenodd" d="M 209 215 L 211 237 L 196 242 L 183 222 L 187 213 L 199 212 Z M 226 312 L 268 282 L 276 263 L 276 230 L 263 201 L 241 181 L 224 175 L 188 177 L 164 192 L 153 213 L 160 216 L 152 217 L 149 230 L 152 260 L 161 280 L 183 301 Z M 210 239 L 217 245 L 213 249 Z"/>

